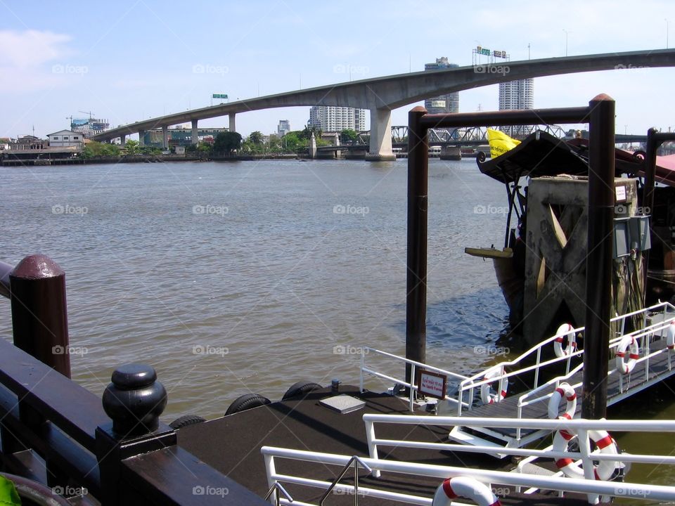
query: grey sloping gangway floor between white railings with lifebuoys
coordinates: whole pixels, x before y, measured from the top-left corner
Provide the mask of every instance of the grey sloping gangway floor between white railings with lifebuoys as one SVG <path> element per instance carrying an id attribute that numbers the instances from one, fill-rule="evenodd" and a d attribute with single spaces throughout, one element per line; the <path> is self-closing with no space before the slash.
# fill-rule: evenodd
<path id="1" fill-rule="evenodd" d="M 673 361 L 675 365 L 675 360 Z M 660 353 L 659 355 L 650 357 L 649 361 L 638 362 L 635 365 L 633 372 L 629 375 L 621 375 L 618 372 L 612 373 L 608 376 L 607 384 L 607 405 L 622 401 L 624 398 L 633 396 L 644 389 L 651 387 L 653 384 L 662 382 L 668 377 L 675 375 L 675 368 L 671 368 L 669 362 L 669 353 Z M 610 368 L 613 368 L 615 362 L 610 362 Z M 649 368 L 648 374 L 645 369 Z M 569 384 L 581 383 L 583 370 L 577 372 L 567 381 Z M 623 384 L 621 383 L 623 382 Z M 549 391 L 541 392 L 541 395 L 551 393 L 553 387 Z M 579 389 L 577 389 L 577 411 L 576 416 L 581 415 L 581 396 Z M 462 416 L 465 417 L 493 417 L 493 418 L 515 418 L 518 416 L 518 395 L 506 397 L 503 401 L 494 404 L 484 404 L 477 406 L 471 410 L 463 410 Z M 565 402 L 560 403 L 560 413 L 565 411 Z M 523 406 L 522 418 L 548 418 L 548 403 L 539 402 L 529 406 Z M 499 432 L 508 438 L 515 438 L 516 429 L 490 429 L 491 432 Z M 521 429 L 521 436 L 532 434 L 534 430 Z"/>

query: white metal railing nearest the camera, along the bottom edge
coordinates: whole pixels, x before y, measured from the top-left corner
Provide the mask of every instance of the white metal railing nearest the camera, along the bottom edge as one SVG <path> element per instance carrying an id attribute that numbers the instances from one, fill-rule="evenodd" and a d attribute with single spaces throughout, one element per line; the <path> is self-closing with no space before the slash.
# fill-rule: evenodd
<path id="1" fill-rule="evenodd" d="M 406 415 L 401 416 L 401 418 L 416 418 L 408 417 Z M 429 422 L 437 422 L 437 417 L 426 417 Z M 449 417 L 448 417 L 449 418 Z M 472 419 L 476 422 L 484 423 L 484 419 Z M 462 420 L 463 421 L 463 420 Z M 513 422 L 514 420 L 508 420 Z M 525 423 L 545 423 L 545 422 L 555 422 L 555 420 L 519 420 L 519 422 Z M 570 421 L 567 421 L 570 422 Z M 605 425 L 603 429 L 608 428 L 608 426 L 617 429 L 615 425 L 616 422 L 605 422 L 602 420 L 597 421 L 586 421 L 589 422 L 588 428 L 584 428 L 583 425 L 577 424 L 574 425 L 574 422 L 581 422 L 581 420 L 572 420 L 572 423 L 566 425 L 565 427 L 569 429 L 574 429 L 584 436 L 584 431 L 588 431 L 593 426 L 593 422 L 603 422 Z M 504 422 L 499 422 L 504 423 Z M 614 425 L 612 425 L 614 423 Z M 658 432 L 663 430 L 662 427 L 656 426 L 646 426 L 642 425 L 643 422 L 638 422 L 638 430 L 645 431 L 655 431 Z M 655 422 L 661 423 L 661 422 Z M 675 422 L 669 422 L 671 427 L 670 430 L 675 431 Z M 629 421 L 626 424 L 630 424 L 630 430 L 636 429 L 636 422 Z M 600 428 L 598 425 L 596 428 Z M 626 428 L 626 430 L 629 430 Z M 463 448 L 464 450 L 466 448 Z M 264 456 L 265 468 L 267 474 L 268 485 L 274 486 L 274 484 L 281 482 L 285 484 L 294 484 L 309 486 L 314 488 L 321 488 L 327 490 L 331 485 L 330 481 L 323 481 L 318 479 L 304 478 L 302 476 L 294 476 L 291 474 L 283 474 L 277 471 L 277 460 L 278 459 L 290 459 L 290 460 L 299 460 L 304 462 L 311 462 L 315 465 L 335 465 L 344 467 L 347 465 L 347 462 L 352 459 L 352 455 L 335 455 L 330 453 L 320 453 L 320 452 L 311 452 L 306 450 L 291 450 L 288 448 L 276 448 L 272 446 L 264 446 L 261 448 L 261 453 Z M 442 465 L 430 465 L 430 464 L 419 464 L 413 462 L 398 462 L 391 460 L 382 460 L 378 458 L 362 458 L 361 460 L 373 471 L 377 472 L 394 472 L 399 474 L 409 474 L 411 476 L 424 476 L 430 478 L 437 478 L 440 480 L 451 478 L 454 476 L 471 476 L 478 481 L 481 481 L 484 484 L 500 484 L 504 486 L 514 486 L 516 488 L 527 487 L 527 488 L 536 488 L 536 489 L 546 489 L 553 491 L 566 491 L 572 493 L 582 493 L 589 495 L 589 502 L 597 502 L 597 498 L 600 495 L 611 495 L 614 497 L 622 498 L 636 498 L 644 499 L 647 497 L 650 500 L 675 500 L 675 487 L 673 486 L 662 486 L 662 485 L 649 485 L 649 484 L 634 484 L 634 483 L 621 483 L 617 484 L 614 481 L 598 481 L 593 479 L 593 463 L 592 460 L 606 460 L 605 455 L 598 455 L 588 452 L 584 462 L 584 468 L 591 473 L 591 479 L 560 479 L 558 477 L 551 476 L 539 476 L 536 474 L 523 474 L 523 473 L 513 473 L 513 472 L 503 472 L 503 471 L 492 471 L 486 469 L 467 469 L 466 467 L 454 467 L 454 466 L 442 466 Z M 624 460 L 628 461 L 629 455 L 608 455 L 612 460 Z M 584 458 L 582 458 L 583 460 Z M 663 460 L 659 460 L 663 462 Z M 586 472 L 586 471 L 584 471 Z M 339 493 L 352 494 L 354 493 L 354 487 L 349 485 L 337 485 L 335 490 Z M 364 487 L 360 486 L 359 491 L 363 495 L 367 495 L 369 498 L 382 498 L 387 500 L 396 500 L 399 502 L 405 502 L 406 504 L 413 505 L 425 505 L 429 506 L 432 504 L 432 499 L 428 497 L 423 497 L 419 495 L 398 493 L 394 491 L 387 490 L 386 488 L 373 488 L 373 487 Z M 281 499 L 282 504 L 290 504 L 288 500 Z M 293 505 L 299 506 L 314 506 L 309 505 L 307 502 L 300 502 L 295 500 Z"/>

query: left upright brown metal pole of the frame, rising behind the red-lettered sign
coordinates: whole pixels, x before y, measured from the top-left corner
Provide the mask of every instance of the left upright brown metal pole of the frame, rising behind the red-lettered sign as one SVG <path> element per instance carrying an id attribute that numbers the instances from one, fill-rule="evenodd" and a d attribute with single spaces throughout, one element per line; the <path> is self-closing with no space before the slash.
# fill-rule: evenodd
<path id="1" fill-rule="evenodd" d="M 427 207 L 429 145 L 420 119 L 423 107 L 408 113 L 408 271 L 406 276 L 406 358 L 424 362 L 427 345 Z M 411 382 L 406 366 L 406 381 Z"/>

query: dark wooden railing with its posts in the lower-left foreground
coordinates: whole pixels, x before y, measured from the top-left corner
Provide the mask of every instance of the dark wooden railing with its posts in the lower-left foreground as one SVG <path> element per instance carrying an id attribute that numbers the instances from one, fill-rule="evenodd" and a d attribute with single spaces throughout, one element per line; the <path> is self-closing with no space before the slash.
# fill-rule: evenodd
<path id="1" fill-rule="evenodd" d="M 32 255 L 0 263 L 14 344 L 0 339 L 0 463 L 55 492 L 103 505 L 266 505 L 176 445 L 160 422 L 165 388 L 149 365 L 122 365 L 103 400 L 72 382 L 65 274 Z"/>

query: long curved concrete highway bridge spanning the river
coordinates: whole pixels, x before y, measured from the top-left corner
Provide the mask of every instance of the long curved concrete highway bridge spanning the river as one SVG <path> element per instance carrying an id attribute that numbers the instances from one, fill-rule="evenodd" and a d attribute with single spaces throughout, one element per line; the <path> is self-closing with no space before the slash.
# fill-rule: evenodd
<path id="1" fill-rule="evenodd" d="M 287 91 L 275 95 L 238 100 L 207 108 L 178 112 L 119 126 L 94 136 L 94 141 L 111 141 L 161 128 L 164 145 L 169 143 L 169 126 L 191 122 L 193 143 L 197 142 L 198 121 L 229 116 L 229 129 L 236 131 L 238 112 L 302 105 L 337 105 L 364 108 L 371 112 L 371 138 L 366 160 L 394 160 L 392 152 L 391 112 L 428 97 L 453 91 L 509 82 L 528 77 L 542 77 L 596 70 L 625 70 L 635 67 L 673 67 L 675 49 L 603 53 L 563 58 L 543 58 L 497 64 L 472 65 L 425 72 L 411 72 L 374 79 L 362 79 L 316 88 Z"/>

